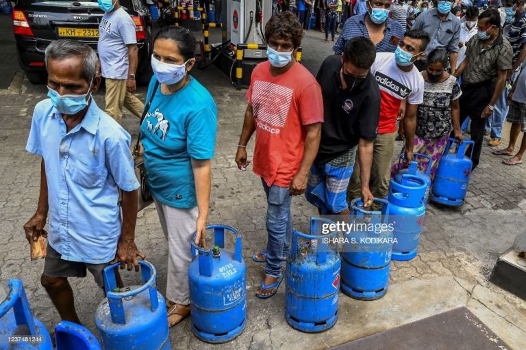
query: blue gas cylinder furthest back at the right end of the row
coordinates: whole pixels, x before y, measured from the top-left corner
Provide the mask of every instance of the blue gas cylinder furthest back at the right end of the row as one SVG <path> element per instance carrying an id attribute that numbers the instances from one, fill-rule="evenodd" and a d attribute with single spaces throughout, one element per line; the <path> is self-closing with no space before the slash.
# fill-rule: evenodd
<path id="1" fill-rule="evenodd" d="M 451 145 L 457 139 L 450 138 L 447 146 L 438 163 L 436 169 L 433 189 L 431 190 L 431 200 L 436 203 L 449 206 L 461 206 L 468 192 L 469 178 L 471 178 L 471 167 L 473 161 L 473 145 L 471 140 L 464 140 L 456 147 L 456 150 L 449 152 Z M 471 154 L 466 156 L 466 148 L 471 146 Z"/>

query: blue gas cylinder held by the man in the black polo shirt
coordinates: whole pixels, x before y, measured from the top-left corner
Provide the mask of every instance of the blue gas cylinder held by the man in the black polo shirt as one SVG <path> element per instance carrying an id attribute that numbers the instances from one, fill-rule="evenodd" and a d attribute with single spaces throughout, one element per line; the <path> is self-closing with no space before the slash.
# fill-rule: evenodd
<path id="1" fill-rule="evenodd" d="M 392 230 L 388 229 L 390 206 L 366 211 L 361 198 L 351 202 L 351 224 L 342 246 L 342 292 L 360 300 L 375 300 L 387 293 L 392 252 Z"/>

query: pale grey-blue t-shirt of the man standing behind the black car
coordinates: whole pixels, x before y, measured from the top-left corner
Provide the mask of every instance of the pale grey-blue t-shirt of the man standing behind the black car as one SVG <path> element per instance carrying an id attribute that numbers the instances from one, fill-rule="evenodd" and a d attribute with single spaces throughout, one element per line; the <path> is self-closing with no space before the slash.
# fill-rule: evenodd
<path id="1" fill-rule="evenodd" d="M 101 59 L 102 76 L 110 79 L 128 78 L 128 47 L 136 44 L 132 17 L 123 9 L 105 12 L 99 24 L 97 51 Z"/>

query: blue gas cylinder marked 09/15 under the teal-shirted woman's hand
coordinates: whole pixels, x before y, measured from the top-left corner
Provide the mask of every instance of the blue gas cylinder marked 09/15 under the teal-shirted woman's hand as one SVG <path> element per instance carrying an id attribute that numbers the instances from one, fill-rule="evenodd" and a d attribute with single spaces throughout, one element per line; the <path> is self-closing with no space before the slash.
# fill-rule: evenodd
<path id="1" fill-rule="evenodd" d="M 241 256 L 241 237 L 234 228 L 218 225 L 206 229 L 214 230 L 213 249 L 199 247 L 195 236 L 191 241 L 192 331 L 205 342 L 227 342 L 239 336 L 247 323 L 247 267 Z M 225 249 L 225 232 L 236 238 L 234 252 Z"/>

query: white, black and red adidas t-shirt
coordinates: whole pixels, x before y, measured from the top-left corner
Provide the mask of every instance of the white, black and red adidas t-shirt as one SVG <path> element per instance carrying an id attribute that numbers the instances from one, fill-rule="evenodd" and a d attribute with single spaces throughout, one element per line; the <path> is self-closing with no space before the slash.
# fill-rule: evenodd
<path id="1" fill-rule="evenodd" d="M 397 66 L 394 53 L 377 53 L 371 72 L 380 87 L 380 121 L 378 133 L 397 131 L 397 115 L 400 103 L 408 98 L 408 103 L 419 105 L 424 100 L 424 79 L 413 66 L 410 72 L 403 72 Z"/>

